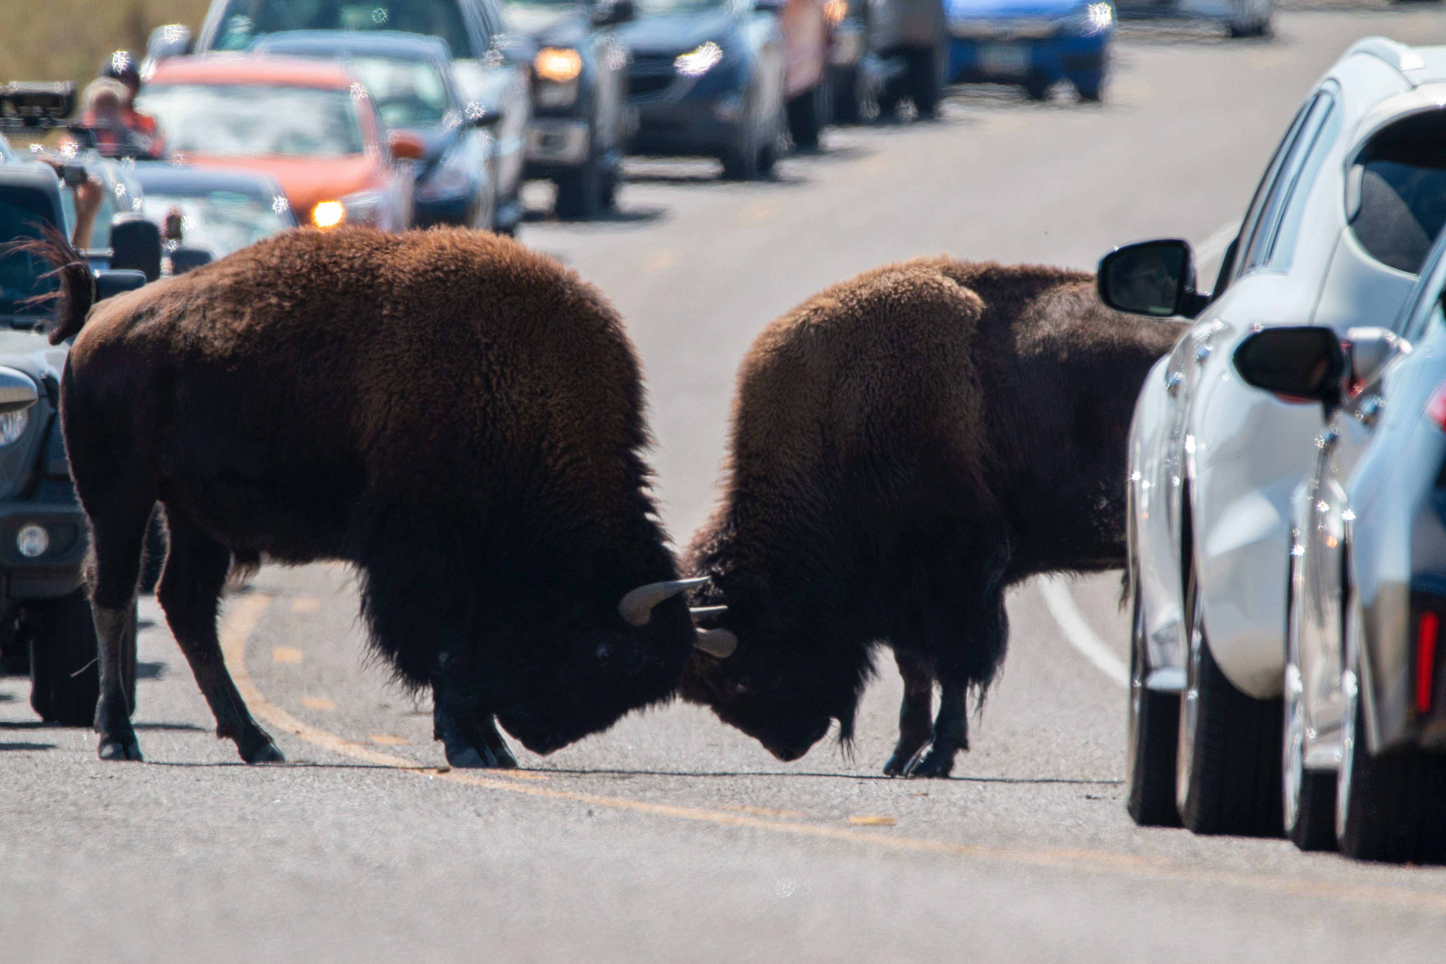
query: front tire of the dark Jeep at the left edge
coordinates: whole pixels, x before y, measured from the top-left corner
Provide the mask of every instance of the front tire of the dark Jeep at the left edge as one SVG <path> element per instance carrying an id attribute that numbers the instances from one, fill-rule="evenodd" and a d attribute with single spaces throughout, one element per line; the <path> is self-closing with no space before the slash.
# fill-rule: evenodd
<path id="1" fill-rule="evenodd" d="M 30 636 L 30 708 L 46 723 L 88 727 L 100 698 L 100 653 L 85 590 L 25 607 Z M 126 700 L 136 707 L 136 610 L 121 650 Z"/>

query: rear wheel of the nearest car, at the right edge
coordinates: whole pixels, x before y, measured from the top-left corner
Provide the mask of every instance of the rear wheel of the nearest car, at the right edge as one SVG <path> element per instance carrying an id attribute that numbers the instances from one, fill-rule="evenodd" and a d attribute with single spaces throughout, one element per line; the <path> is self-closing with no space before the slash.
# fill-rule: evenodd
<path id="1" fill-rule="evenodd" d="M 1446 756 L 1414 747 L 1372 756 L 1359 675 L 1343 681 L 1336 844 L 1355 860 L 1446 860 Z"/>

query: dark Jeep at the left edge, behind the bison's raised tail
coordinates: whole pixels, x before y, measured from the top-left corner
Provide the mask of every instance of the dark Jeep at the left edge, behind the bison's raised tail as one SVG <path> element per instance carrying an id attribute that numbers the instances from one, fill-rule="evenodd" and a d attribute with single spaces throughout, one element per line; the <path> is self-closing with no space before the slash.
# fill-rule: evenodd
<path id="1" fill-rule="evenodd" d="M 0 129 L 14 130 L 14 121 L 22 120 L 6 103 L 13 90 L 0 91 L 0 121 L 10 121 Z M 62 175 L 71 169 L 81 172 L 84 166 L 65 165 Z M 55 168 L 17 156 L 0 136 L 0 244 L 39 237 L 46 225 L 64 231 L 62 186 Z M 150 256 L 159 260 L 153 225 L 121 223 L 142 224 Z M 136 237 L 129 228 L 107 233 L 117 247 L 132 246 Z M 90 254 L 100 260 L 111 250 Z M 69 345 L 51 345 L 43 328 L 52 308 L 29 301 L 52 291 L 54 279 L 45 277 L 49 270 L 25 251 L 0 254 L 0 662 L 10 672 L 29 666 L 30 705 L 43 720 L 90 726 L 100 673 L 81 575 L 87 525 L 58 418 Z M 145 283 L 142 272 L 101 270 L 97 296 Z M 133 689 L 134 632 L 129 637 L 130 659 L 121 673 Z"/>

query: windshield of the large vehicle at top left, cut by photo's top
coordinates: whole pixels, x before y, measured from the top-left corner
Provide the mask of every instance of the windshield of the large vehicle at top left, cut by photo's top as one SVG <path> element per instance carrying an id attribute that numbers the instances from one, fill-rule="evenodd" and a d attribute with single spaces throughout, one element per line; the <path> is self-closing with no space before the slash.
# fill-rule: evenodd
<path id="1" fill-rule="evenodd" d="M 402 30 L 440 36 L 453 56 L 476 56 L 458 0 L 230 0 L 217 51 L 244 51 L 282 30 Z"/>

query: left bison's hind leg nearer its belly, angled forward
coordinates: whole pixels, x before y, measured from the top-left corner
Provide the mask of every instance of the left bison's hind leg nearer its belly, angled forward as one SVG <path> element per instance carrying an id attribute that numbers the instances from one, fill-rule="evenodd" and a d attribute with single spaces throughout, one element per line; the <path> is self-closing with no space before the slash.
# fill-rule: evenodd
<path id="1" fill-rule="evenodd" d="M 166 506 L 171 549 L 156 600 L 181 645 L 201 694 L 215 717 L 215 736 L 236 741 L 247 763 L 281 763 L 285 757 L 256 726 L 231 682 L 215 633 L 215 610 L 231 568 L 231 552 L 176 509 Z"/>

